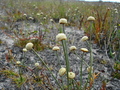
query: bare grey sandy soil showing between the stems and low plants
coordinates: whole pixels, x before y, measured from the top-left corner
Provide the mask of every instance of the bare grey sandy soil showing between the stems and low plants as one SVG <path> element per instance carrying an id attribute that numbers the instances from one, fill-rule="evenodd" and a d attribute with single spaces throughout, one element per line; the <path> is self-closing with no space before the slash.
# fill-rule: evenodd
<path id="1" fill-rule="evenodd" d="M 4 15 L 4 11 L 0 9 L 0 15 Z M 2 26 L 5 24 L 4 22 L 0 21 L 0 25 Z M 20 28 L 21 25 L 25 24 L 24 21 L 16 22 L 16 24 L 19 24 L 18 28 Z M 6 24 L 7 25 L 7 24 Z M 38 29 L 38 24 L 31 22 L 30 26 L 34 29 Z M 30 28 L 31 28 L 30 27 Z M 27 27 L 25 27 L 26 30 L 30 30 Z M 7 58 L 8 54 L 12 54 L 15 60 L 22 61 L 23 60 L 23 51 L 21 47 L 17 47 L 14 45 L 14 41 L 16 38 L 11 38 L 9 35 L 14 35 L 10 31 L 3 31 L 0 30 L 0 40 L 2 43 L 0 44 L 0 70 L 13 70 L 15 72 L 18 72 L 18 67 L 15 65 L 15 63 L 11 63 L 9 61 L 9 58 Z M 18 31 L 19 32 L 19 31 Z M 75 45 L 77 47 L 76 53 L 81 56 L 82 52 L 80 51 L 80 48 L 88 48 L 88 45 L 86 42 L 80 42 L 80 39 L 84 36 L 83 30 L 78 30 L 74 27 L 65 27 L 65 32 L 67 34 L 68 38 L 68 47 Z M 43 40 L 44 44 L 48 44 L 49 46 L 53 47 L 55 45 L 55 42 L 53 42 L 51 39 L 55 40 L 55 37 L 58 33 L 58 30 L 56 28 L 53 28 L 51 32 L 46 34 L 46 39 Z M 51 38 L 51 39 L 50 39 Z M 98 73 L 100 72 L 98 78 L 94 82 L 94 90 L 100 90 L 102 86 L 102 81 L 106 81 L 106 90 L 120 90 L 120 79 L 113 78 L 112 73 L 115 71 L 113 68 L 114 60 L 109 58 L 108 55 L 106 55 L 106 52 L 104 50 L 101 50 L 96 44 L 93 43 L 93 68 L 94 72 Z M 62 67 L 65 67 L 65 60 L 63 56 L 62 46 L 60 46 L 61 52 L 58 52 L 60 56 L 60 63 Z M 55 52 L 52 51 L 51 48 L 46 48 L 43 51 L 39 51 L 38 54 L 43 58 L 43 60 L 47 63 L 48 66 L 53 68 L 53 72 L 55 73 L 55 77 L 60 79 L 58 75 L 58 70 L 60 67 L 58 67 L 58 61 L 55 55 Z M 84 60 L 89 64 L 90 63 L 90 53 L 86 53 L 84 56 Z M 73 54 L 69 53 L 69 61 L 70 61 L 70 69 L 71 71 L 76 73 L 75 80 L 79 80 L 79 67 L 81 60 Z M 33 54 L 33 51 L 28 51 L 25 53 L 25 60 L 24 64 L 29 67 L 30 70 L 24 70 L 24 74 L 27 76 L 31 76 L 33 72 L 36 73 L 34 63 L 39 62 L 42 66 L 42 63 L 39 61 L 39 59 L 36 57 L 35 54 Z M 87 66 L 83 64 L 83 81 L 85 82 L 88 73 L 87 73 Z M 42 72 L 42 71 L 39 71 Z M 50 77 L 52 84 L 55 84 L 55 81 L 51 78 L 51 75 L 49 72 L 44 72 L 48 77 Z M 42 90 L 40 89 L 36 84 L 34 83 L 25 83 L 21 88 L 18 88 L 16 84 L 13 83 L 12 79 L 7 78 L 6 75 L 0 74 L 0 90 L 31 90 L 30 88 L 33 88 L 34 90 Z M 50 90 L 50 89 L 46 89 Z M 103 90 L 103 89 L 101 89 Z"/>

